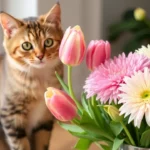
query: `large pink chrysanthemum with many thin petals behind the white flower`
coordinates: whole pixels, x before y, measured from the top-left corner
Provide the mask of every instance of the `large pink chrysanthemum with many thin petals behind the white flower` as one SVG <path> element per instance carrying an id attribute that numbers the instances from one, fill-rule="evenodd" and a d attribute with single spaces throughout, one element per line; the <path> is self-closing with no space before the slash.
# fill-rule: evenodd
<path id="1" fill-rule="evenodd" d="M 150 68 L 150 59 L 137 53 L 128 56 L 122 53 L 114 59 L 106 60 L 87 78 L 84 86 L 87 98 L 97 95 L 102 103 L 117 103 L 120 94 L 118 88 L 124 77 L 130 77 L 135 71 L 143 71 L 144 67 Z"/>

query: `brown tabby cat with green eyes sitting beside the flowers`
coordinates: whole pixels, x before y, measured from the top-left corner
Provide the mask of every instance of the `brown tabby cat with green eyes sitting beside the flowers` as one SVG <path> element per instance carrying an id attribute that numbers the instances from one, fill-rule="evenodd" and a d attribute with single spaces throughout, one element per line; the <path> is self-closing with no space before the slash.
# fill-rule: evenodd
<path id="1" fill-rule="evenodd" d="M 59 4 L 36 21 L 0 14 L 5 48 L 0 60 L 0 121 L 10 150 L 48 150 L 53 117 L 44 92 L 49 86 L 60 88 L 55 77 L 55 71 L 63 73 L 58 58 L 60 15 Z"/>

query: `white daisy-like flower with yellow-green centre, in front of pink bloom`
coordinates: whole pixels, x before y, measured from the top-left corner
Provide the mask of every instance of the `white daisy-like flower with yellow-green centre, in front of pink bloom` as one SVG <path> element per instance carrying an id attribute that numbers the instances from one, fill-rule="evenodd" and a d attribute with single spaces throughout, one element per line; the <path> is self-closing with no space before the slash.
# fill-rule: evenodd
<path id="1" fill-rule="evenodd" d="M 150 70 L 136 72 L 131 77 L 124 79 L 119 90 L 120 115 L 130 116 L 128 123 L 134 121 L 134 126 L 140 128 L 141 121 L 145 115 L 147 124 L 150 126 Z"/>

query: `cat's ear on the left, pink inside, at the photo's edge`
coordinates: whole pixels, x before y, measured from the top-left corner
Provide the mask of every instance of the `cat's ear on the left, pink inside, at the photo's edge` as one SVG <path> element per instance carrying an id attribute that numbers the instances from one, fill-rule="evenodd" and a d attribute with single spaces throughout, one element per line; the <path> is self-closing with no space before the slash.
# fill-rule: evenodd
<path id="1" fill-rule="evenodd" d="M 0 24 L 3 28 L 5 36 L 11 38 L 15 35 L 17 29 L 22 25 L 22 22 L 7 13 L 1 13 Z"/>

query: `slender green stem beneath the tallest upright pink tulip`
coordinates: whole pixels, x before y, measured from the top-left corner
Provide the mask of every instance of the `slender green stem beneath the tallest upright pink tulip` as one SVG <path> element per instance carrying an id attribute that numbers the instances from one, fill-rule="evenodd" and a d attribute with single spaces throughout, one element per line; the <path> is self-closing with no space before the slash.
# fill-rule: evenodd
<path id="1" fill-rule="evenodd" d="M 72 97 L 72 99 L 74 100 L 74 102 L 76 103 L 80 113 L 82 113 L 82 106 L 81 104 L 79 103 L 79 101 L 77 100 L 77 98 L 75 97 L 75 94 L 73 92 L 73 88 L 72 88 L 72 67 L 71 66 L 68 66 L 68 87 L 69 87 L 69 93 L 70 93 L 70 96 Z"/>

